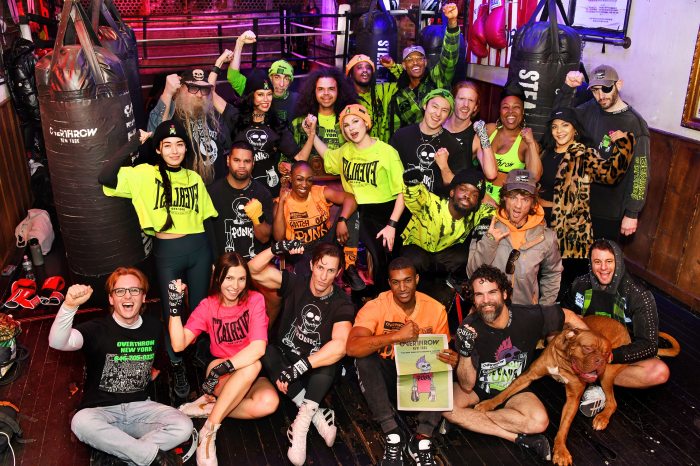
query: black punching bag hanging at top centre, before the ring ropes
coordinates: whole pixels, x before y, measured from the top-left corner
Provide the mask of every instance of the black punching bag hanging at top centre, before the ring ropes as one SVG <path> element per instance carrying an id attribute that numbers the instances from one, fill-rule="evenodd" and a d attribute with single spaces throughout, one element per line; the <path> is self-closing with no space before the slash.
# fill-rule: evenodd
<path id="1" fill-rule="evenodd" d="M 377 9 L 377 0 L 372 1 L 369 11 L 364 13 L 353 25 L 355 36 L 355 51 L 353 55 L 363 53 L 374 61 L 375 77 L 378 81 L 389 78 L 389 70 L 380 65 L 383 55 L 397 58 L 397 28 L 396 20 L 389 13 Z"/>

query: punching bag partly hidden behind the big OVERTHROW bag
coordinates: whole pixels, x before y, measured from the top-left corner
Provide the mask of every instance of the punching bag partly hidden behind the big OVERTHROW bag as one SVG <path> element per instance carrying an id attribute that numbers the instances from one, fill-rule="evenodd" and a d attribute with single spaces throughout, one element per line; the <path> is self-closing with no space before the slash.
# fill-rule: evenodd
<path id="1" fill-rule="evenodd" d="M 97 32 L 100 44 L 115 54 L 129 82 L 129 95 L 134 104 L 136 126 L 146 129 L 146 112 L 143 108 L 141 78 L 139 77 L 139 51 L 134 30 L 126 24 L 112 0 L 93 0 L 92 28 Z"/>

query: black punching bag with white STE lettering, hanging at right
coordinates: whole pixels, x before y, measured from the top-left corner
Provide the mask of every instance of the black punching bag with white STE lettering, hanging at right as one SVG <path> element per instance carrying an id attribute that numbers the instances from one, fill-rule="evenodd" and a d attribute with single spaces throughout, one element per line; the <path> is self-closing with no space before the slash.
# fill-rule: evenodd
<path id="1" fill-rule="evenodd" d="M 557 6 L 566 25 L 557 24 Z M 540 11 L 542 21 L 535 21 Z M 578 70 L 580 61 L 581 36 L 569 27 L 561 0 L 541 0 L 515 32 L 508 70 L 508 82 L 517 82 L 525 91 L 525 121 L 536 139 L 546 130 L 566 73 Z"/>

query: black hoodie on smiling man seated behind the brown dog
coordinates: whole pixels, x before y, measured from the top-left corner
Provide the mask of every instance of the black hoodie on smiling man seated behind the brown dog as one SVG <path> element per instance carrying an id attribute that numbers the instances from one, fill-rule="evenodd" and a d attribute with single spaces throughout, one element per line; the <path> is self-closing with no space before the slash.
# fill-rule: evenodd
<path id="1" fill-rule="evenodd" d="M 636 283 L 625 271 L 625 261 L 617 243 L 608 241 L 615 251 L 615 273 L 608 286 L 600 284 L 591 269 L 574 280 L 564 296 L 564 308 L 586 315 L 603 315 L 627 326 L 632 343 L 613 350 L 614 364 L 629 364 L 656 356 L 659 316 L 656 301 L 649 290 Z"/>

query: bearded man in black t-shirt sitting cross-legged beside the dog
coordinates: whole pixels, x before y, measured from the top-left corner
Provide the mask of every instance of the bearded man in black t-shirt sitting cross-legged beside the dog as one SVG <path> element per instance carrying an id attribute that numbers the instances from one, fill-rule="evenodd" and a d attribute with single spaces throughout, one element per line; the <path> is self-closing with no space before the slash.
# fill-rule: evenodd
<path id="1" fill-rule="evenodd" d="M 549 441 L 542 435 L 549 419 L 534 393 L 520 392 L 494 411 L 479 412 L 473 407 L 505 390 L 527 370 L 539 339 L 561 331 L 564 323 L 586 326 L 576 314 L 556 304 L 511 305 L 508 277 L 489 265 L 472 273 L 469 292 L 476 312 L 457 329 L 460 358 L 454 409 L 443 416 L 464 429 L 509 440 L 550 460 Z"/>

